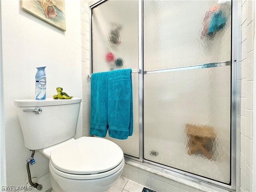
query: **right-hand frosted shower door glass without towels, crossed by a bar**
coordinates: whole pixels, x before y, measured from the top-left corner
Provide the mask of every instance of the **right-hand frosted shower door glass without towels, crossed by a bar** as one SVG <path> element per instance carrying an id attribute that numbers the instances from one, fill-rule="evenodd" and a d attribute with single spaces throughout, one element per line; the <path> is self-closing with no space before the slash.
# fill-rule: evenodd
<path id="1" fill-rule="evenodd" d="M 146 160 L 230 183 L 230 58 L 231 2 L 144 1 Z"/>

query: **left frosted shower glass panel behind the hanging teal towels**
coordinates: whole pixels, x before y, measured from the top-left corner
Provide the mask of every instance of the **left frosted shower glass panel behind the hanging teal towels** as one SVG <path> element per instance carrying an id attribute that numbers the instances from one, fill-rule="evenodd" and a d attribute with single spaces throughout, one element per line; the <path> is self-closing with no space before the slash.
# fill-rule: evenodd
<path id="1" fill-rule="evenodd" d="M 92 72 L 138 68 L 138 1 L 108 0 L 92 9 Z M 106 138 L 124 154 L 139 157 L 138 73 L 132 73 L 134 132 L 127 140 Z"/>

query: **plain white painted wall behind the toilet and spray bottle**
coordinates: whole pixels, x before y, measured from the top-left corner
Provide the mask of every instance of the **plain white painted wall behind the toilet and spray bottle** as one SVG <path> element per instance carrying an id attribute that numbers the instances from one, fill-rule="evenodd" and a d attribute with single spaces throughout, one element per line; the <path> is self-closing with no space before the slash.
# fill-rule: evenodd
<path id="1" fill-rule="evenodd" d="M 13 100 L 34 98 L 36 66 L 46 65 L 48 98 L 56 87 L 81 97 L 81 14 L 80 0 L 65 1 L 66 32 L 36 18 L 20 8 L 19 0 L 2 0 L 2 53 L 4 79 L 4 115 L 6 133 L 6 171 L 8 185 L 27 182 L 24 147 Z M 76 138 L 82 136 L 82 110 Z M 61 132 L 60 132 L 61 134 Z M 39 152 L 31 166 L 32 177 L 48 172 L 49 160 Z"/>

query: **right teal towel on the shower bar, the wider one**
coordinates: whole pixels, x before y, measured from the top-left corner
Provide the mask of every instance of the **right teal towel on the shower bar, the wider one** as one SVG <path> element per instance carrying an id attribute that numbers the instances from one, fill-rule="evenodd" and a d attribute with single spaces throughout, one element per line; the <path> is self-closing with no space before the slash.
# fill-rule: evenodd
<path id="1" fill-rule="evenodd" d="M 108 135 L 127 139 L 133 132 L 132 70 L 108 73 Z"/>

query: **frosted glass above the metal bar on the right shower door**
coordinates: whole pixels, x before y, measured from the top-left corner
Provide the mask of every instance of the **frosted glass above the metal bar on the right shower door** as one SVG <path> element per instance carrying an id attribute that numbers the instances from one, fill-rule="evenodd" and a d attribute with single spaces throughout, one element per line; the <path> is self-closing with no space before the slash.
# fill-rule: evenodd
<path id="1" fill-rule="evenodd" d="M 220 2 L 144 0 L 144 70 L 229 61 L 231 1 Z"/>

